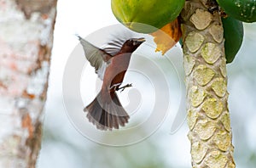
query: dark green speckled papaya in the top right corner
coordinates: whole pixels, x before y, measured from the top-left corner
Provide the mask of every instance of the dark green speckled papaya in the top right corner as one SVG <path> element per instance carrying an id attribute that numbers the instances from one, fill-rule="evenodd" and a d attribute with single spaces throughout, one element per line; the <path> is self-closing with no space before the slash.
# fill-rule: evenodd
<path id="1" fill-rule="evenodd" d="M 243 22 L 256 21 L 255 0 L 217 0 L 218 5 L 224 8 L 224 12 L 229 16 Z"/>

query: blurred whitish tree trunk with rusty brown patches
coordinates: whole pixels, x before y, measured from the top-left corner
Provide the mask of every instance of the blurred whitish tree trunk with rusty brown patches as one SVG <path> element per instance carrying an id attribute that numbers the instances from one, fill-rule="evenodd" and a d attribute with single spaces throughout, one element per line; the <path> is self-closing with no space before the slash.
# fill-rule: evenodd
<path id="1" fill-rule="evenodd" d="M 55 16 L 56 0 L 0 0 L 0 167 L 36 165 Z"/>

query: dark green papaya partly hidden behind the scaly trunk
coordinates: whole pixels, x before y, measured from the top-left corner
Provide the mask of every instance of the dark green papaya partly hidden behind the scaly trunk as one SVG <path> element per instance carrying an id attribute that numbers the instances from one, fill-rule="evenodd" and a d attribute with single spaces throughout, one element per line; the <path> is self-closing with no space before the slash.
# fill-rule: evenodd
<path id="1" fill-rule="evenodd" d="M 224 27 L 224 48 L 227 63 L 231 63 L 241 48 L 243 39 L 242 22 L 232 17 L 222 18 Z"/>

